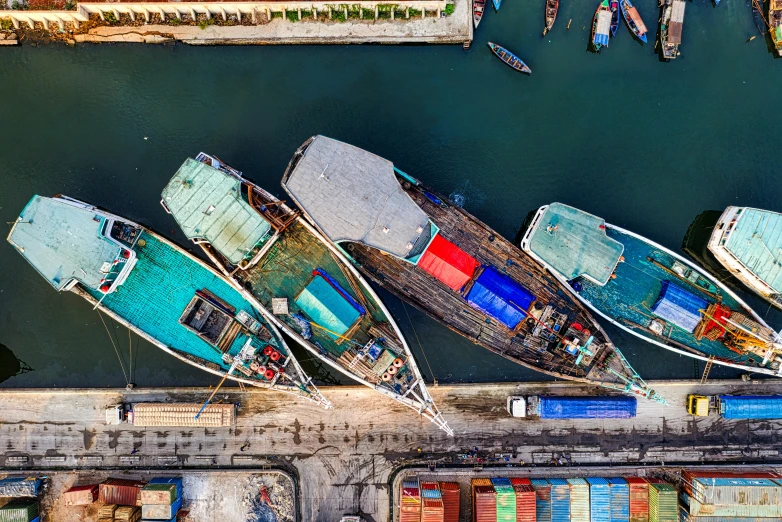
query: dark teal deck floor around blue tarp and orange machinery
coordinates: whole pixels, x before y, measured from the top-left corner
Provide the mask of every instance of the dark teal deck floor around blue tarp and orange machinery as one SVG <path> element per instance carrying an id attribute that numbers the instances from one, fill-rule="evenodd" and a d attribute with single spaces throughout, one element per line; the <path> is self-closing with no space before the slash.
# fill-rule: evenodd
<path id="1" fill-rule="evenodd" d="M 651 308 L 660 295 L 663 281 L 668 280 L 686 288 L 690 292 L 703 297 L 709 303 L 715 302 L 713 297 L 704 292 L 697 291 L 691 285 L 681 282 L 679 279 L 647 259 L 647 257 L 653 257 L 666 266 L 669 266 L 673 261 L 673 257 L 670 254 L 654 248 L 652 245 L 632 236 L 618 232 L 611 227 L 608 227 L 606 233 L 608 237 L 616 239 L 624 245 L 625 261 L 619 263 L 619 266 L 616 269 L 616 278 L 612 279 L 608 284 L 605 286 L 598 286 L 584 280 L 582 290 L 579 293 L 595 308 L 608 317 L 618 320 L 621 324 L 643 337 L 656 341 L 664 341 L 663 339 L 655 337 L 647 331 L 622 320 L 625 319 L 642 326 L 647 326 L 650 319 L 655 317 L 651 312 Z M 717 289 L 716 292 L 722 297 L 723 304 L 729 306 L 733 310 L 742 309 L 730 295 L 719 289 Z M 718 341 L 710 341 L 708 339 L 696 340 L 691 333 L 678 327 L 673 327 L 672 329 L 670 327 L 666 328 L 666 337 L 668 336 L 669 331 L 672 340 L 699 350 L 705 356 L 714 355 L 737 363 L 745 363 L 748 361 L 748 357 L 739 356 L 736 352 L 726 348 Z M 756 362 L 761 362 L 761 359 L 755 356 L 752 356 L 752 359 Z"/>

